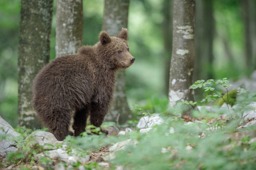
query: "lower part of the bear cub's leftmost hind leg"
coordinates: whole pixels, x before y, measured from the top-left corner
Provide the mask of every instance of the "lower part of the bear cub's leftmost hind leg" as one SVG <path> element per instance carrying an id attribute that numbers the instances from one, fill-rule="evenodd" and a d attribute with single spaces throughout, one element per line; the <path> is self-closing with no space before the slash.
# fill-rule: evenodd
<path id="1" fill-rule="evenodd" d="M 55 108 L 53 109 L 51 118 L 48 119 L 48 121 L 50 122 L 48 124 L 49 130 L 59 141 L 64 140 L 67 135 L 73 135 L 73 133 L 69 131 L 71 112 L 72 111 L 68 109 Z"/>

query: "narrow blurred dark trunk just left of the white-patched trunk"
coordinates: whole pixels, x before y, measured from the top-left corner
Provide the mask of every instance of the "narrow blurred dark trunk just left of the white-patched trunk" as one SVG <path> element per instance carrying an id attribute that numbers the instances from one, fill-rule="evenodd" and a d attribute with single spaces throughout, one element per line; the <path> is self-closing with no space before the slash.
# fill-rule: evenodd
<path id="1" fill-rule="evenodd" d="M 163 38 L 164 38 L 164 94 L 169 91 L 170 63 L 172 56 L 172 0 L 164 0 Z"/>

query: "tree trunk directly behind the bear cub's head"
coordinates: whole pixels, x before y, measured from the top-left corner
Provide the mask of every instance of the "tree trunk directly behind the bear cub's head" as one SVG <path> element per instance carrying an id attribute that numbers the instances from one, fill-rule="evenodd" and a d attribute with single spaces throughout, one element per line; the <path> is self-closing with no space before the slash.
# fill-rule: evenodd
<path id="1" fill-rule="evenodd" d="M 127 28 L 129 0 L 105 0 L 102 30 L 110 36 L 117 36 L 122 28 Z M 105 120 L 124 123 L 131 117 L 125 93 L 125 70 L 116 75 L 115 92 L 110 111 Z"/>

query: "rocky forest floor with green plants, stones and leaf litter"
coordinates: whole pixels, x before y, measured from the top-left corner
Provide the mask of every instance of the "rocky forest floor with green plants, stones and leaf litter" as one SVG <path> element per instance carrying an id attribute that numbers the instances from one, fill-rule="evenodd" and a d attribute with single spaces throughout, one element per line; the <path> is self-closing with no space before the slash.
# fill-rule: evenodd
<path id="1" fill-rule="evenodd" d="M 220 110 L 216 112 L 219 114 Z M 26 128 L 16 129 L 23 138 L 17 141 L 18 149 L 14 153 L 0 159 L 0 169 L 204 170 L 255 167 L 255 110 L 250 112 L 255 117 L 246 121 L 241 121 L 238 115 L 233 115 L 231 119 L 225 109 L 222 112 L 224 114 L 193 118 L 164 117 L 161 114 L 145 115 L 136 126 L 127 124 L 122 126 L 126 128 L 116 125 L 107 127 L 106 130 L 111 132 L 107 136 L 84 133 L 80 137 L 69 136 L 62 143 L 50 141 L 47 132 L 30 130 L 27 133 Z M 254 124 L 250 124 L 251 122 Z M 246 126 L 249 124 L 250 126 Z M 31 133 L 33 138 L 29 137 Z M 40 138 L 40 141 L 46 140 L 48 143 L 42 145 L 38 142 L 36 137 L 38 133 L 47 133 L 44 139 Z M 46 149 L 45 145 L 52 145 L 53 148 Z M 67 160 L 63 156 L 64 153 L 59 151 L 56 152 L 57 155 L 52 153 L 61 149 L 66 151 Z M 88 159 L 82 160 L 82 158 Z M 212 163 L 212 160 L 215 163 Z"/>

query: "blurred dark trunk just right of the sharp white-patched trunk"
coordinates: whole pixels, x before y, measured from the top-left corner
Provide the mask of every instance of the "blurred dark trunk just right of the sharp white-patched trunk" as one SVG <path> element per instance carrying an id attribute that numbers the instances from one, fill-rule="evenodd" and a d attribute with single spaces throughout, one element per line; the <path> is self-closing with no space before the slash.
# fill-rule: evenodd
<path id="1" fill-rule="evenodd" d="M 195 7 L 195 70 L 193 80 L 212 78 L 214 32 L 212 0 L 197 0 Z"/>

